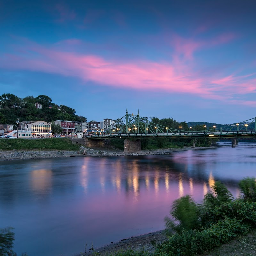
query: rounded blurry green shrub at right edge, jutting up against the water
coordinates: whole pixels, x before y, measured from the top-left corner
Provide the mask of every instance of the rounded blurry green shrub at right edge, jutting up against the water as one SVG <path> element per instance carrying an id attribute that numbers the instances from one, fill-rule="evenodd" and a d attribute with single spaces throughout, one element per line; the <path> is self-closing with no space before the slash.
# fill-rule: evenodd
<path id="1" fill-rule="evenodd" d="M 244 194 L 244 199 L 256 202 L 256 180 L 255 178 L 244 178 L 238 183 L 241 193 Z"/>

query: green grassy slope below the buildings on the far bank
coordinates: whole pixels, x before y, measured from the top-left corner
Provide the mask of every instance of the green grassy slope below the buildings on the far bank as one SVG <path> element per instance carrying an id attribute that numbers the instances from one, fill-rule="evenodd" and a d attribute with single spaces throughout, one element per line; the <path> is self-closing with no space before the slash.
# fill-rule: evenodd
<path id="1" fill-rule="evenodd" d="M 66 138 L 47 139 L 0 139 L 0 150 L 79 150 L 79 146 L 72 144 Z"/>

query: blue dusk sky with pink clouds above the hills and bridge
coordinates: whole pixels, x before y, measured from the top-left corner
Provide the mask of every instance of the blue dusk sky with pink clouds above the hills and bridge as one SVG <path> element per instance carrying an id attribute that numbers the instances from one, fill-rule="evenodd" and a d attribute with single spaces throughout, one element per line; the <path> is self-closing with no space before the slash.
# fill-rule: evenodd
<path id="1" fill-rule="evenodd" d="M 0 94 L 87 120 L 256 116 L 254 0 L 0 1 Z"/>

